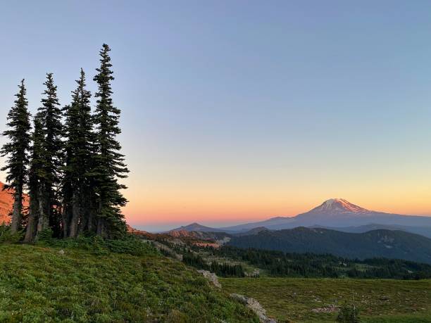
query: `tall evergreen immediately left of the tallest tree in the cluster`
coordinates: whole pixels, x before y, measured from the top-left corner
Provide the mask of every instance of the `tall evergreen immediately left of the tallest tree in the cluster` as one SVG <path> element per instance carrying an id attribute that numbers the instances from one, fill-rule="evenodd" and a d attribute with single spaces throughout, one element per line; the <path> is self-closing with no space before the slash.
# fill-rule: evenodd
<path id="1" fill-rule="evenodd" d="M 82 231 L 89 217 L 88 196 L 92 167 L 91 93 L 85 89 L 85 72 L 81 69 L 72 103 L 65 111 L 65 167 L 63 168 L 63 229 L 64 235 L 74 237 L 78 224 Z"/>

